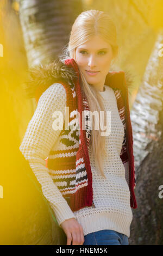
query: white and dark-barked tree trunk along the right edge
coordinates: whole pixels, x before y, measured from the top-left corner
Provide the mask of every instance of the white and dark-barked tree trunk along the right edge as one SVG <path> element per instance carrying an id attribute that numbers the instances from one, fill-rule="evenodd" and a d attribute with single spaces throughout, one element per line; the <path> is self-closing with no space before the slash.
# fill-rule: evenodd
<path id="1" fill-rule="evenodd" d="M 137 209 L 131 223 L 130 244 L 163 244 L 163 30 L 155 46 L 131 111 L 133 124 Z"/>

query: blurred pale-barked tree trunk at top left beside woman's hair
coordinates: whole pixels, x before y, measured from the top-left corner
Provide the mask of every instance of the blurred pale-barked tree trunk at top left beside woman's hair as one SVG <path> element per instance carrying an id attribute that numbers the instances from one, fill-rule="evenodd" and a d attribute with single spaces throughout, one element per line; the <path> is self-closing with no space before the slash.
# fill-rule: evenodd
<path id="1" fill-rule="evenodd" d="M 19 0 L 20 21 L 29 66 L 54 60 L 68 43 L 80 0 Z"/>

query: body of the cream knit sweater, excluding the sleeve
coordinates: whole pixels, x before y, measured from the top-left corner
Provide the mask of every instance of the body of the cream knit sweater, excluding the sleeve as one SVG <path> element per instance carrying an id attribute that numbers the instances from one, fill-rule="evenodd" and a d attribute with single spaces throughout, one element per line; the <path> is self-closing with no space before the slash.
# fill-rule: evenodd
<path id="1" fill-rule="evenodd" d="M 104 86 L 100 92 L 104 99 L 105 111 L 111 111 L 111 133 L 106 137 L 106 158 L 104 159 L 104 179 L 95 167 L 91 157 L 93 202 L 96 208 L 86 207 L 75 211 L 84 235 L 103 229 L 115 230 L 130 236 L 130 224 L 133 214 L 130 208 L 128 176 L 120 158 L 124 129 L 118 113 L 116 97 L 112 88 Z"/>

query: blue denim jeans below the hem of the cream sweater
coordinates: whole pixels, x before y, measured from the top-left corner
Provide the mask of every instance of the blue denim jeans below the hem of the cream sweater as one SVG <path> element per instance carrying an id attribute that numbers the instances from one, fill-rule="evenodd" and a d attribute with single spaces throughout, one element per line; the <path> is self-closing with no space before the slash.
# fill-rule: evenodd
<path id="1" fill-rule="evenodd" d="M 84 239 L 83 245 L 129 245 L 128 236 L 110 229 L 92 232 Z"/>

